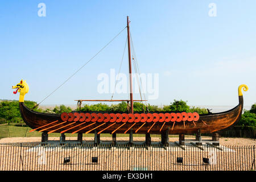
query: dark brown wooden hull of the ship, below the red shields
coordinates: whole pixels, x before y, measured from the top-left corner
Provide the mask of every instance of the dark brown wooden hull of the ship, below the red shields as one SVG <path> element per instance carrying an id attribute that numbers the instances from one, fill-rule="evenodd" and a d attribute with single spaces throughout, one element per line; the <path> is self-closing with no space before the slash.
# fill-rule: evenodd
<path id="1" fill-rule="evenodd" d="M 239 96 L 239 104 L 233 109 L 222 113 L 201 114 L 196 122 L 69 122 L 62 121 L 60 114 L 30 110 L 24 102 L 20 102 L 19 106 L 22 118 L 29 127 L 47 133 L 94 133 L 96 130 L 100 133 L 123 134 L 133 130 L 137 134 L 160 134 L 168 130 L 168 134 L 192 134 L 199 129 L 201 133 L 213 133 L 234 125 L 242 114 L 243 96 Z"/>

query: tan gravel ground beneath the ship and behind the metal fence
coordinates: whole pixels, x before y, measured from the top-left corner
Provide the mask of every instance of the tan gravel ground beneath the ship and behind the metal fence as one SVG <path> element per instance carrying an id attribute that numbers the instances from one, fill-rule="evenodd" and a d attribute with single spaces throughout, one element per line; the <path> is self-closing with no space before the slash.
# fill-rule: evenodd
<path id="1" fill-rule="evenodd" d="M 67 137 L 66 140 L 76 138 Z M 93 142 L 93 137 L 83 138 Z M 134 142 L 143 142 L 143 137 L 134 137 Z M 193 139 L 193 138 L 186 138 Z M 203 139 L 210 139 L 204 137 Z M 39 146 L 40 137 L 15 137 L 0 140 L 0 171 L 80 171 L 80 170 L 221 170 L 240 171 L 256 169 L 253 163 L 256 141 L 247 138 L 220 138 L 220 148 L 203 144 L 201 148 L 186 144 L 183 148 L 172 146 L 179 138 L 169 138 L 170 147 L 80 147 L 80 146 Z M 49 138 L 59 140 L 59 137 Z M 112 138 L 102 137 L 101 141 Z M 118 142 L 128 141 L 128 137 L 117 138 Z M 159 142 L 160 138 L 151 138 Z M 1 144 L 2 143 L 2 144 Z M 5 144 L 3 144 L 5 143 Z M 16 145 L 16 143 L 25 143 Z M 221 149 L 221 150 L 220 150 Z M 64 164 L 64 158 L 71 161 Z M 98 163 L 92 163 L 92 157 Z M 182 157 L 183 163 L 176 159 Z M 209 158 L 212 164 L 203 163 Z"/>

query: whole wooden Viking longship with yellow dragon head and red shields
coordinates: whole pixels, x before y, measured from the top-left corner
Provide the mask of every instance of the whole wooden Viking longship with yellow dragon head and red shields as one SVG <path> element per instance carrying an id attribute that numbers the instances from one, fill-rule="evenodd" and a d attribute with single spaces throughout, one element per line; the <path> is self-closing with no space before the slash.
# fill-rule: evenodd
<path id="1" fill-rule="evenodd" d="M 129 55 L 129 75 L 130 75 L 130 99 L 129 100 L 94 100 L 94 101 L 127 101 L 130 108 L 127 113 L 96 113 L 73 111 L 71 113 L 47 114 L 39 113 L 28 109 L 24 105 L 24 96 L 28 93 L 28 85 L 22 80 L 13 89 L 14 93 L 19 92 L 19 108 L 24 122 L 31 127 L 31 131 L 40 131 L 43 133 L 108 133 L 108 134 L 126 134 L 133 130 L 137 134 L 160 134 L 167 131 L 168 134 L 191 134 L 199 129 L 201 133 L 214 133 L 219 130 L 228 129 L 236 123 L 243 110 L 243 91 L 247 91 L 246 85 L 238 87 L 239 104 L 228 111 L 221 113 L 134 113 L 133 102 L 142 100 L 133 100 L 132 80 L 131 80 L 131 50 L 130 50 L 130 30 L 129 17 L 127 16 L 127 44 Z M 92 100 L 79 100 L 92 101 Z"/>

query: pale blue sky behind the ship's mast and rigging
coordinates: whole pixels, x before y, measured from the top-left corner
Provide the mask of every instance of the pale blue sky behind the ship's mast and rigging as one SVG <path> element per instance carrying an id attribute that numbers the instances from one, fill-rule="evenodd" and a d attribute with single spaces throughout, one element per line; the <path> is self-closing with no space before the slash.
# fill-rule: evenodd
<path id="1" fill-rule="evenodd" d="M 46 16 L 38 16 L 38 4 Z M 217 16 L 210 17 L 210 3 Z M 256 102 L 256 2 L 251 1 L 1 1 L 0 99 L 18 100 L 12 85 L 27 80 L 26 100 L 42 101 L 126 26 L 141 73 L 159 73 L 154 105 L 176 100 L 189 105 Z M 118 71 L 126 42 L 123 31 L 104 51 L 42 104 L 110 99 L 97 92 L 100 73 Z M 121 69 L 127 73 L 127 53 Z M 114 94 L 126 99 L 128 94 Z M 135 99 L 139 95 L 135 94 Z"/>

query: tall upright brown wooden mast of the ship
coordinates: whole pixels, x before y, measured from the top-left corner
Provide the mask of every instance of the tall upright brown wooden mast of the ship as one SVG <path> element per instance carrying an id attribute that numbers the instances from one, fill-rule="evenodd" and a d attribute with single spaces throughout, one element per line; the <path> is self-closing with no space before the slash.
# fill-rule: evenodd
<path id="1" fill-rule="evenodd" d="M 127 40 L 128 40 L 128 55 L 129 55 L 129 78 L 130 78 L 130 113 L 133 114 L 133 77 L 131 75 L 131 48 L 130 48 L 130 27 L 129 16 L 127 16 Z"/>

